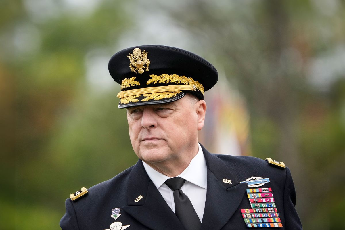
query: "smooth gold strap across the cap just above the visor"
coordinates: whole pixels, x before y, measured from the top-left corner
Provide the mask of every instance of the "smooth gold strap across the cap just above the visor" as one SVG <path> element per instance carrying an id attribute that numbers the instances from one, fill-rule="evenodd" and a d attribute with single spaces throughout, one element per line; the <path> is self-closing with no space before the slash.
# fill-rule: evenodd
<path id="1" fill-rule="evenodd" d="M 120 91 L 117 94 L 118 98 L 124 98 L 128 96 L 134 96 L 139 94 L 147 94 L 147 93 L 158 93 L 158 92 L 178 92 L 181 90 L 193 90 L 196 91 L 197 87 L 195 85 L 169 85 L 169 86 L 156 86 L 156 87 L 147 87 L 141 89 L 132 89 L 132 90 L 125 90 Z"/>

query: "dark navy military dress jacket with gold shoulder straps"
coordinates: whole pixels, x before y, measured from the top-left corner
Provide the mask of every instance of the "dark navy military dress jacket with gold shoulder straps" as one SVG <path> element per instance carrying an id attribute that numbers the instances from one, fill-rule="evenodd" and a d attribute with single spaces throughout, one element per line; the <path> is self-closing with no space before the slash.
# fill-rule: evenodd
<path id="1" fill-rule="evenodd" d="M 274 202 L 283 227 L 256 229 L 302 229 L 295 210 L 296 194 L 290 170 L 270 166 L 255 157 L 211 154 L 204 147 L 207 164 L 207 194 L 201 230 L 248 229 L 241 209 L 250 209 L 247 183 L 250 177 L 269 178 L 259 188 L 272 188 Z M 231 180 L 231 184 L 223 179 Z M 87 196 L 75 202 L 66 200 L 62 230 L 104 230 L 119 221 L 127 230 L 184 230 L 181 222 L 148 177 L 142 161 L 116 177 L 88 189 Z M 143 198 L 138 201 L 138 197 Z M 137 199 L 138 202 L 135 202 Z M 111 210 L 120 208 L 114 220 Z"/>

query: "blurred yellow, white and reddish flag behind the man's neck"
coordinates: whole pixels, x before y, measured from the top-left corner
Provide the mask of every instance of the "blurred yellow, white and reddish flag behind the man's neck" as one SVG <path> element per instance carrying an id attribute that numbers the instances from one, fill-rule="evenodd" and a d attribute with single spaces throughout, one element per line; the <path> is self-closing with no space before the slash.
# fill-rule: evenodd
<path id="1" fill-rule="evenodd" d="M 239 92 L 220 78 L 205 101 L 205 126 L 198 134 L 199 142 L 214 153 L 250 155 L 249 115 Z"/>

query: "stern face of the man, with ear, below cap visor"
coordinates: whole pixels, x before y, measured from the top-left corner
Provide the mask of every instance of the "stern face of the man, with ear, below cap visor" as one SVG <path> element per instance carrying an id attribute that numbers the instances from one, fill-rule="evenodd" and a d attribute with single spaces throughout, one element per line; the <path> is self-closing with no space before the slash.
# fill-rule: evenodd
<path id="1" fill-rule="evenodd" d="M 129 136 L 135 153 L 147 163 L 174 163 L 188 154 L 195 156 L 197 132 L 204 126 L 205 112 L 205 101 L 188 94 L 171 103 L 128 108 Z"/>

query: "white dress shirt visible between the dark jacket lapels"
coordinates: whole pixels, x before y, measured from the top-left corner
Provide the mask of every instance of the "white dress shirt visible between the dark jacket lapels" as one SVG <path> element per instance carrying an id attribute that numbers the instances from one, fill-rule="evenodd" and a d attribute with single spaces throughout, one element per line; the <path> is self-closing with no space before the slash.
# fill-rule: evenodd
<path id="1" fill-rule="evenodd" d="M 150 179 L 155 184 L 171 210 L 175 213 L 174 192 L 164 183 L 170 177 L 152 169 L 147 163 L 142 163 L 144 164 L 144 168 Z M 207 166 L 200 144 L 198 153 L 191 160 L 188 167 L 181 172 L 178 177 L 186 180 L 181 190 L 188 196 L 200 221 L 202 221 L 206 201 Z"/>

